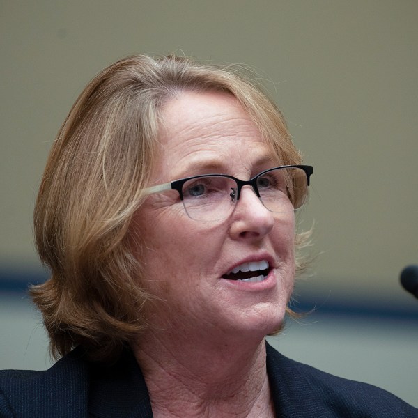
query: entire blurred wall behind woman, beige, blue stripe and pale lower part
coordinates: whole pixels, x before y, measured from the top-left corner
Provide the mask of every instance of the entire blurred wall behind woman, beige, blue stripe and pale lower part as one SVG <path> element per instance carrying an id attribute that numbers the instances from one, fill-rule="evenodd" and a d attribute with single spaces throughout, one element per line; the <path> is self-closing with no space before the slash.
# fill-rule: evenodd
<path id="1" fill-rule="evenodd" d="M 314 165 L 302 226 L 318 254 L 272 339 L 289 357 L 418 406 L 418 2 L 0 1 L 0 368 L 45 369 L 26 293 L 47 277 L 33 203 L 72 103 L 102 68 L 176 52 L 258 70 Z"/>

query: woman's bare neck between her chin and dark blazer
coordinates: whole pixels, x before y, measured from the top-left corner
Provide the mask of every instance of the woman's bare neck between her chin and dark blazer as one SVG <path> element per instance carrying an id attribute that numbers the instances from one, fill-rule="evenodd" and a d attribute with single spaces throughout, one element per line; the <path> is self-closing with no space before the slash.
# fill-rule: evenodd
<path id="1" fill-rule="evenodd" d="M 265 341 L 142 335 L 132 344 L 154 417 L 270 417 Z"/>

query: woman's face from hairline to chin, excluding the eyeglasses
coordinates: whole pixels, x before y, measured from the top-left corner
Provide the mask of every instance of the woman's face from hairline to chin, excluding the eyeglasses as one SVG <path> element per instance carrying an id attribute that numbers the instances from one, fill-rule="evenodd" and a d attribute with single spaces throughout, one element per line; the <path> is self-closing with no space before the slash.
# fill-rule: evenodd
<path id="1" fill-rule="evenodd" d="M 278 165 L 254 123 L 226 93 L 186 92 L 169 101 L 160 145 L 150 185 L 207 173 L 248 180 Z M 269 212 L 249 186 L 232 214 L 217 222 L 190 219 L 176 191 L 148 196 L 132 229 L 144 242 L 138 251 L 144 284 L 157 296 L 148 307 L 153 329 L 261 337 L 277 330 L 293 290 L 294 223 L 293 212 Z M 262 281 L 226 278 L 247 263 L 263 269 L 265 262 Z"/>

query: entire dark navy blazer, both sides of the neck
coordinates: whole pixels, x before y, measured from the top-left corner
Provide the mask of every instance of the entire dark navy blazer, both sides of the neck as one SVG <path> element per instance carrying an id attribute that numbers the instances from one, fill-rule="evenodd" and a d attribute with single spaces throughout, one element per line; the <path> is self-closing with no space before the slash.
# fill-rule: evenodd
<path id="1" fill-rule="evenodd" d="M 267 371 L 277 417 L 418 418 L 418 410 L 364 383 L 294 362 L 267 345 Z M 1 418 L 148 418 L 148 390 L 134 356 L 113 366 L 76 349 L 47 371 L 0 372 Z"/>

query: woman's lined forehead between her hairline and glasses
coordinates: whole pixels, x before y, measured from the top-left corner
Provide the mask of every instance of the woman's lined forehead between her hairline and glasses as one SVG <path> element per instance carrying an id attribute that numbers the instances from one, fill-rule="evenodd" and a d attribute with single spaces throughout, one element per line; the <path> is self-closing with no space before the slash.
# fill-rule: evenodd
<path id="1" fill-rule="evenodd" d="M 228 93 L 185 92 L 162 110 L 160 161 L 164 180 L 229 169 L 251 170 L 271 152 L 250 116 Z M 238 175 L 238 173 L 233 173 Z"/>

